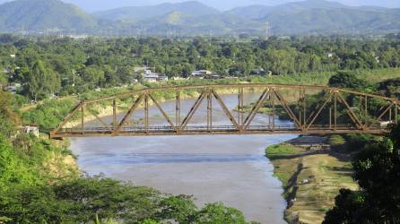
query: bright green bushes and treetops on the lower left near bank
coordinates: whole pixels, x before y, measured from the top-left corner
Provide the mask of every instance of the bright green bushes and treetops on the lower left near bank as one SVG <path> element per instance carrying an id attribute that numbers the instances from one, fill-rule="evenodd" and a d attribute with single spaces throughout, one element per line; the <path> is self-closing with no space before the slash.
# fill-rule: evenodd
<path id="1" fill-rule="evenodd" d="M 190 196 L 81 176 L 66 142 L 18 134 L 14 96 L 0 90 L 0 99 L 0 221 L 247 223 L 240 211 L 219 202 L 199 209 Z"/>

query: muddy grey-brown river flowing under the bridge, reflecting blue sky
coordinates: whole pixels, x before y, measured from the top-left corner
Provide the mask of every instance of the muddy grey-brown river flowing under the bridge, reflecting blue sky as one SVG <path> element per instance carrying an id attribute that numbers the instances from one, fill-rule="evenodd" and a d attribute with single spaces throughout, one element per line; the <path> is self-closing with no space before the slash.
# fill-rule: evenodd
<path id="1" fill-rule="evenodd" d="M 257 93 L 245 95 L 247 102 Z M 223 95 L 230 110 L 237 106 L 236 95 Z M 182 101 L 183 111 L 194 99 Z M 203 103 L 193 117 L 192 125 L 204 125 Z M 175 103 L 161 107 L 171 116 Z M 214 124 L 227 125 L 229 120 L 213 100 Z M 138 120 L 143 112 L 133 117 Z M 157 108 L 150 109 L 152 120 L 160 120 Z M 268 116 L 257 115 L 253 124 L 262 125 Z M 277 120 L 277 125 L 288 123 Z M 273 166 L 265 158 L 265 147 L 296 137 L 279 135 L 212 135 L 157 137 L 100 137 L 71 139 L 71 148 L 78 155 L 79 167 L 89 175 L 148 185 L 169 194 L 194 195 L 196 203 L 224 202 L 237 208 L 247 220 L 279 224 L 286 202 L 281 183 L 273 177 Z"/>

